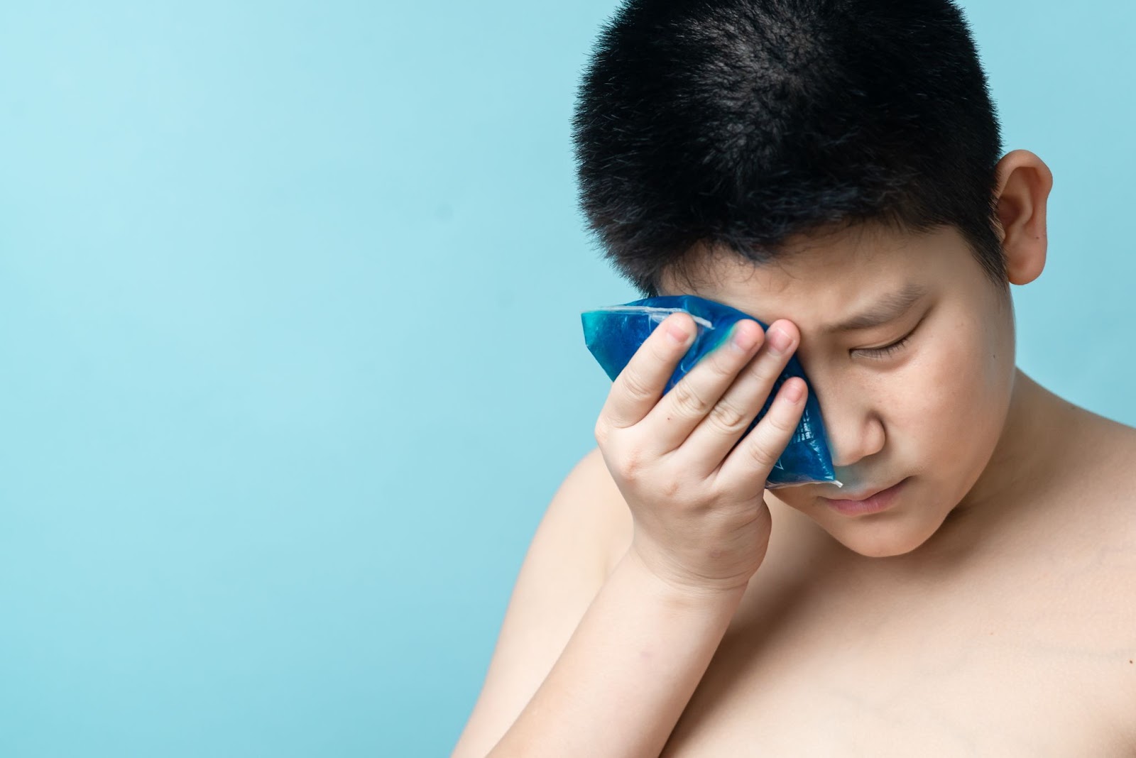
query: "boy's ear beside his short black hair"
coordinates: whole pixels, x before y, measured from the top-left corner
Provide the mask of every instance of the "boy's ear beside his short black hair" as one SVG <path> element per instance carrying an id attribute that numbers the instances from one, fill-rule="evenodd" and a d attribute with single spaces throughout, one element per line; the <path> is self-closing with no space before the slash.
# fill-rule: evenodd
<path id="1" fill-rule="evenodd" d="M 1045 268 L 1045 203 L 1053 172 L 1028 150 L 1013 150 L 997 162 L 997 217 L 1010 284 L 1024 285 Z"/>

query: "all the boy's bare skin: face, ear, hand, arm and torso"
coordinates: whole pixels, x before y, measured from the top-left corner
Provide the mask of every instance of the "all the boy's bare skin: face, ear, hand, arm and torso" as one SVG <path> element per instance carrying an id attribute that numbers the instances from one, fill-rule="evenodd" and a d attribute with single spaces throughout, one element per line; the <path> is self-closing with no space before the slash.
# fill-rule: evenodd
<path id="1" fill-rule="evenodd" d="M 1027 151 L 997 169 L 1008 285 L 1025 285 L 1052 175 Z M 613 382 L 454 758 L 1136 755 L 1136 430 L 1017 369 L 1008 285 L 952 229 L 788 247 L 760 267 L 705 250 L 661 283 L 769 335 L 740 322 L 750 347 L 659 398 L 685 347 L 657 329 Z M 911 283 L 928 292 L 907 313 L 826 331 Z M 778 330 L 846 489 L 762 490 L 799 404 L 720 461 L 783 365 Z M 878 514 L 819 499 L 901 479 Z"/>

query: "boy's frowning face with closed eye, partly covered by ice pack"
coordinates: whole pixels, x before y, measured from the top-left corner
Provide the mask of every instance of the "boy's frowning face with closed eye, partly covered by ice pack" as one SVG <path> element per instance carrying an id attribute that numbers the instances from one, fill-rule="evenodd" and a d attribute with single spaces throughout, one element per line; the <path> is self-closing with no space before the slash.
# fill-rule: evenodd
<path id="1" fill-rule="evenodd" d="M 796 326 L 796 356 L 820 403 L 844 488 L 804 485 L 771 495 L 855 553 L 908 553 L 955 506 L 982 499 L 988 483 L 994 488 L 989 475 L 979 477 L 1012 432 L 1009 292 L 985 277 L 953 227 L 922 236 L 859 227 L 791 250 L 784 261 L 760 267 L 704 255 L 693 281 L 665 277 L 660 294 L 695 294 L 767 325 L 787 319 Z M 886 321 L 837 328 L 904 290 L 918 296 Z M 904 337 L 889 353 L 872 352 Z M 900 481 L 892 506 L 874 514 L 844 515 L 821 499 Z"/>

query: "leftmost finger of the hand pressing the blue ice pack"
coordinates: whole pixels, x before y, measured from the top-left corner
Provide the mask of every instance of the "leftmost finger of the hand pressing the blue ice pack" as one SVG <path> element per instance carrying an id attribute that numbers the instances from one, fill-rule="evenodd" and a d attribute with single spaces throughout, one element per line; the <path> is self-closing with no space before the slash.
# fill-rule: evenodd
<path id="1" fill-rule="evenodd" d="M 609 429 L 642 421 L 662 397 L 667 380 L 694 342 L 696 325 L 690 313 L 671 313 L 654 328 L 612 382 L 595 423 L 600 441 Z M 669 393 L 668 393 L 669 394 Z"/>

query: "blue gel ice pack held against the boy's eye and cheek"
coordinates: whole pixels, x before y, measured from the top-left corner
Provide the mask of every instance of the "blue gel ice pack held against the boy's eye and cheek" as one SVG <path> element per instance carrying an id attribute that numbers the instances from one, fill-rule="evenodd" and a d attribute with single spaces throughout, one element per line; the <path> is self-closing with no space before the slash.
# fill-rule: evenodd
<path id="1" fill-rule="evenodd" d="M 741 319 L 753 319 L 761 325 L 763 330 L 768 329 L 768 325 L 724 303 L 695 295 L 663 295 L 585 311 L 580 314 L 580 320 L 584 322 L 584 342 L 587 349 L 607 371 L 608 377 L 615 381 L 640 345 L 663 319 L 675 311 L 690 313 L 698 326 L 698 334 L 694 337 L 694 344 L 683 355 L 678 368 L 667 381 L 662 390 L 663 394 L 669 393 L 686 376 L 686 372 L 694 368 L 695 363 L 725 342 L 735 322 Z M 790 377 L 804 379 L 809 386 L 809 395 L 804 403 L 804 412 L 801 414 L 801 422 L 777 464 L 769 472 L 766 488 L 775 489 L 820 482 L 841 486 L 833 471 L 833 458 L 828 452 L 825 426 L 820 418 L 820 405 L 812 393 L 812 385 L 804 376 L 795 355 L 790 356 L 785 370 L 774 382 L 774 388 L 770 390 L 765 406 L 742 437 L 750 433 L 766 415 L 777 390 Z"/>

